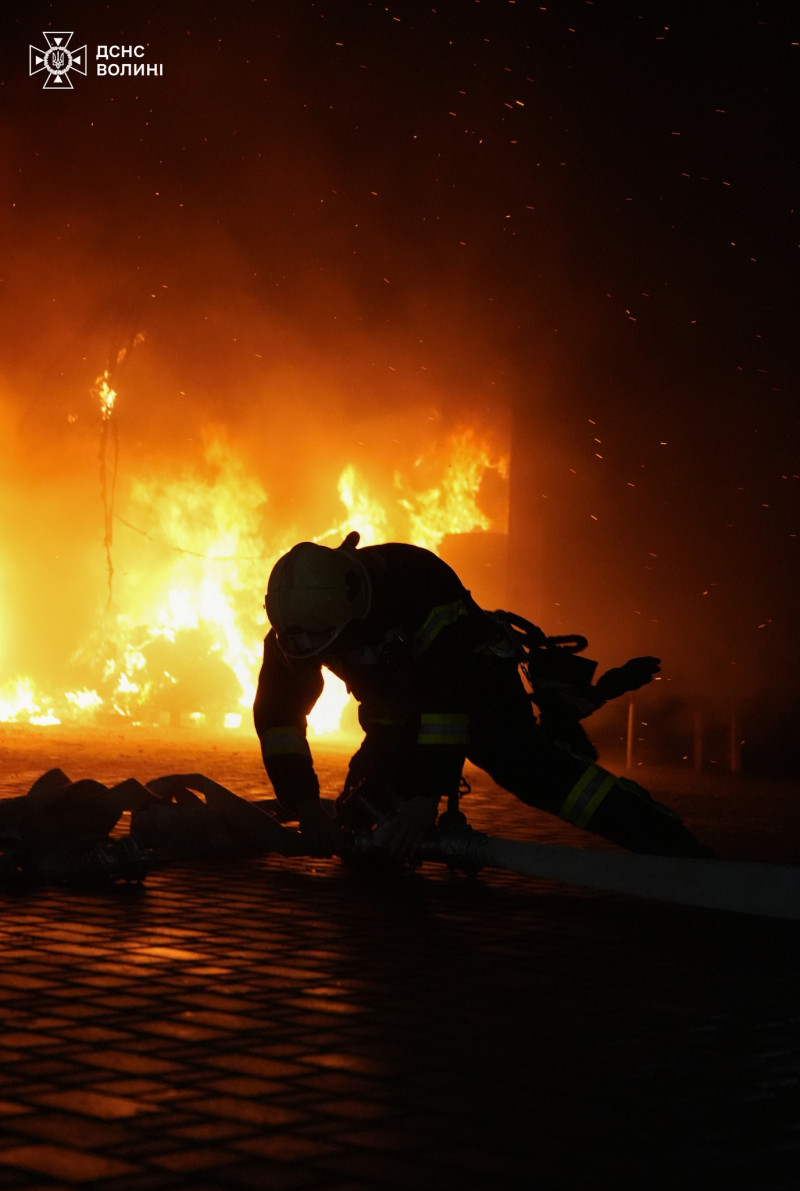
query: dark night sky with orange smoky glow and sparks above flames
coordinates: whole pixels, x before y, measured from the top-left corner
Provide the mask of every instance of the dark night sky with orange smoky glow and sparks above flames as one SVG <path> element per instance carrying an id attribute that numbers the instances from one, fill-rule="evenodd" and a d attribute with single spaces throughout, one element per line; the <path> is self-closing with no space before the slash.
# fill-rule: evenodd
<path id="1" fill-rule="evenodd" d="M 23 492 L 39 518 L 12 581 L 76 582 L 42 518 L 92 459 L 94 378 L 146 331 L 120 369 L 123 466 L 221 423 L 280 512 L 329 466 L 320 437 L 333 472 L 431 418 L 511 426 L 520 611 L 788 723 L 796 6 L 12 2 L 0 21 L 0 460 L 14 523 Z M 89 46 L 69 93 L 29 77 L 44 30 Z M 96 77 L 102 44 L 145 45 L 163 76 Z M 288 406 L 258 395 L 280 385 Z"/>

